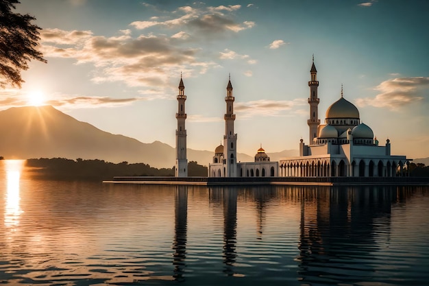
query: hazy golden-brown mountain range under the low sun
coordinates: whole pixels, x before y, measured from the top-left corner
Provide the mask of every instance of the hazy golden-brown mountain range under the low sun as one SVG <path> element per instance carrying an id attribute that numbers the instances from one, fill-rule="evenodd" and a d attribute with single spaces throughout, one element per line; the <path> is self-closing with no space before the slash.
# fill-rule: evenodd
<path id="1" fill-rule="evenodd" d="M 25 106 L 0 111 L 0 156 L 4 158 L 82 158 L 112 163 L 127 161 L 151 167 L 173 167 L 175 148 L 154 141 L 142 143 L 127 136 L 99 130 L 52 106 Z M 188 160 L 200 165 L 211 162 L 214 151 L 188 149 Z M 297 150 L 271 153 L 271 160 L 297 156 Z M 238 153 L 242 162 L 253 161 Z"/>

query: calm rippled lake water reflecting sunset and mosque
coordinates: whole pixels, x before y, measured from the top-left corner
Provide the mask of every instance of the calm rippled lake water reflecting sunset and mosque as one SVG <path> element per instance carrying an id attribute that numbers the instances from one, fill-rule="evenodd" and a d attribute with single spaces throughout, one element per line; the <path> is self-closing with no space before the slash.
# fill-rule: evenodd
<path id="1" fill-rule="evenodd" d="M 0 163 L 0 284 L 428 285 L 427 187 L 33 180 Z"/>

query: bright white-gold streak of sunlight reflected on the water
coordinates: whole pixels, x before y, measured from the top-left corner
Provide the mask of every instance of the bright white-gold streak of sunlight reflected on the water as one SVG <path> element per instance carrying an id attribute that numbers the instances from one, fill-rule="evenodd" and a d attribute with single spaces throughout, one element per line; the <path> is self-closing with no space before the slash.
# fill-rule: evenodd
<path id="1" fill-rule="evenodd" d="M 8 228 L 19 225 L 19 216 L 23 212 L 19 206 L 19 179 L 23 169 L 24 160 L 5 160 L 7 191 L 5 195 L 4 223 Z"/>

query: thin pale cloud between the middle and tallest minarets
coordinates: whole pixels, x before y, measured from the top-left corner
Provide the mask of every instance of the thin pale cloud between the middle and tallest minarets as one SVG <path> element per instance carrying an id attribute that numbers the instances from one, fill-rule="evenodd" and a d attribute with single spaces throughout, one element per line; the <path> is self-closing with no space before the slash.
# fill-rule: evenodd
<path id="1" fill-rule="evenodd" d="M 291 110 L 295 106 L 302 106 L 305 104 L 304 99 L 294 100 L 269 100 L 260 99 L 252 102 L 238 102 L 234 109 L 237 116 L 240 118 L 252 117 L 255 115 L 260 116 L 278 116 L 286 110 Z"/>

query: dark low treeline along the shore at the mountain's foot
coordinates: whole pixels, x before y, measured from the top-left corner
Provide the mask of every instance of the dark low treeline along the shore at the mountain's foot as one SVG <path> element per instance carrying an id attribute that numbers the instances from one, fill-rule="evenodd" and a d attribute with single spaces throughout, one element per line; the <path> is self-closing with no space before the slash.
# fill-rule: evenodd
<path id="1" fill-rule="evenodd" d="M 112 180 L 115 176 L 174 176 L 174 169 L 157 169 L 144 163 L 110 163 L 104 160 L 71 160 L 66 158 L 32 158 L 27 167 L 34 167 L 30 174 L 49 180 Z M 207 167 L 197 162 L 188 163 L 188 176 L 207 176 Z"/>

